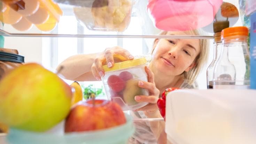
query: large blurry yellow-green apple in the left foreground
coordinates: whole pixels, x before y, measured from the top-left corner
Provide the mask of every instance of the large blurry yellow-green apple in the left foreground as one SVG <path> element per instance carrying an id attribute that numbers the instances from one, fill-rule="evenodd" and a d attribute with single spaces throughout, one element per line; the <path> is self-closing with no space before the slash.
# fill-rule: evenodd
<path id="1" fill-rule="evenodd" d="M 14 69 L 0 81 L 0 121 L 10 127 L 42 132 L 69 113 L 71 87 L 36 63 Z"/>

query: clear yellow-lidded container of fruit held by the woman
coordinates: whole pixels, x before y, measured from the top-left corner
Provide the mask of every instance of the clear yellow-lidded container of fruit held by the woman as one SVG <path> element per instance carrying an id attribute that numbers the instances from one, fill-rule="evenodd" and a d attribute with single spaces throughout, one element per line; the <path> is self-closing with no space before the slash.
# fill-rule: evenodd
<path id="1" fill-rule="evenodd" d="M 137 95 L 148 96 L 148 90 L 138 86 L 139 81 L 147 81 L 144 57 L 115 63 L 112 68 L 103 66 L 105 75 L 102 77 L 107 98 L 117 102 L 123 110 L 135 110 L 146 106 L 147 102 L 136 102 Z"/>

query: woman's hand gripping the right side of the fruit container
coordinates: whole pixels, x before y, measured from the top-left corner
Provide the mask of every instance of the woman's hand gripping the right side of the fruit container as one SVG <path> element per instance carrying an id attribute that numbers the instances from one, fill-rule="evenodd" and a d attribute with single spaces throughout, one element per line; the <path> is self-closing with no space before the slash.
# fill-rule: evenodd
<path id="1" fill-rule="evenodd" d="M 156 88 L 154 81 L 154 73 L 145 66 L 145 72 L 147 73 L 148 82 L 139 81 L 138 86 L 149 91 L 149 96 L 135 96 L 137 102 L 148 102 L 149 104 L 137 109 L 136 111 L 144 111 L 148 117 L 156 117 L 159 114 L 156 102 L 159 98 L 160 91 Z"/>

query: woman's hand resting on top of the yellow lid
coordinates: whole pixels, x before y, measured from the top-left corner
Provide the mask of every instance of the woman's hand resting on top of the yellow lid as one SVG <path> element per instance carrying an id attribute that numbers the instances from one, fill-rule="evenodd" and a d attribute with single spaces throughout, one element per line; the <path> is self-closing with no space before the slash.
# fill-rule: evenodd
<path id="1" fill-rule="evenodd" d="M 134 57 L 125 49 L 115 46 L 112 48 L 106 48 L 106 50 L 100 53 L 94 59 L 94 63 L 92 64 L 92 74 L 97 80 L 101 80 L 101 77 L 105 75 L 105 72 L 102 67 L 102 63 L 106 60 L 108 68 L 113 67 L 114 65 L 114 54 L 121 55 L 125 57 L 127 60 L 132 60 Z"/>

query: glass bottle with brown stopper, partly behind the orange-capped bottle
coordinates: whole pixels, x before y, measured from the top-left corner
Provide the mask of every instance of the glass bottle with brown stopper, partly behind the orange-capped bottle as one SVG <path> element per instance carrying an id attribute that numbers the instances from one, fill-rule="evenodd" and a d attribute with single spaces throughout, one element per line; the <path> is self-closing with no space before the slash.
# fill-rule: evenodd
<path id="1" fill-rule="evenodd" d="M 214 57 L 211 62 L 211 64 L 208 66 L 206 71 L 206 77 L 207 77 L 207 89 L 212 89 L 213 87 L 213 74 L 214 74 L 214 68 L 216 65 L 216 62 L 219 58 L 220 51 L 222 48 L 222 41 L 220 38 L 220 33 L 224 28 L 229 27 L 229 21 L 215 21 L 213 23 L 213 29 L 214 29 Z"/>

